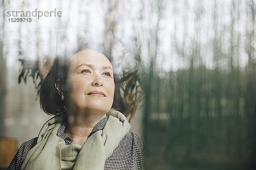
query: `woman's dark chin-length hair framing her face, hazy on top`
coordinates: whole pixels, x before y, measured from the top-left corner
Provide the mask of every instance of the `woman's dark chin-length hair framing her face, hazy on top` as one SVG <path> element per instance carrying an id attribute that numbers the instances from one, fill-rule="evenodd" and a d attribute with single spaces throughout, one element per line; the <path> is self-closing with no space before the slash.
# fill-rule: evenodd
<path id="1" fill-rule="evenodd" d="M 83 49 L 90 49 L 93 51 L 99 51 L 104 54 L 108 60 L 112 63 L 111 49 L 107 48 L 105 44 L 91 44 L 91 43 L 81 43 L 76 52 Z M 61 90 L 68 91 L 66 85 L 67 73 L 70 67 L 70 55 L 66 57 L 56 57 L 51 65 L 49 73 L 41 84 L 41 87 L 38 89 L 39 102 L 42 110 L 49 114 L 55 115 L 66 111 L 65 104 L 61 100 L 61 96 L 58 94 L 58 91 L 55 88 L 55 82 L 60 80 Z M 114 82 L 115 82 L 115 91 L 112 108 L 117 111 L 122 112 L 125 116 L 128 115 L 128 103 L 125 102 L 124 96 L 121 95 L 120 89 L 123 86 L 123 82 L 120 81 L 120 76 L 114 73 Z"/>

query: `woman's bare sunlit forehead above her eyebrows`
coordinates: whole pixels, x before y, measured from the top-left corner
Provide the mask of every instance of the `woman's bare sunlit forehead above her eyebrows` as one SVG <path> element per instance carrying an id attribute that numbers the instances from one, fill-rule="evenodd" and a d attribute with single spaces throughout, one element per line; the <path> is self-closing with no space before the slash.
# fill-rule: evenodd
<path id="1" fill-rule="evenodd" d="M 78 66 L 81 64 L 95 64 L 95 65 L 103 65 L 110 66 L 112 68 L 111 62 L 108 58 L 99 51 L 93 51 L 89 49 L 84 49 L 77 52 L 73 56 L 72 65 Z"/>

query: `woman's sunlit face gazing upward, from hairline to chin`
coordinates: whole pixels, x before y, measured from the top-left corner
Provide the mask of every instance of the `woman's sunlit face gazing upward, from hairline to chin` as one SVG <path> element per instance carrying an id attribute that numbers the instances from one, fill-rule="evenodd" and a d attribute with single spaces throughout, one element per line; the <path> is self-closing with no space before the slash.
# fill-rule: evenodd
<path id="1" fill-rule="evenodd" d="M 67 75 L 70 91 L 66 105 L 90 112 L 107 113 L 113 104 L 114 79 L 111 62 L 98 51 L 75 54 Z"/>

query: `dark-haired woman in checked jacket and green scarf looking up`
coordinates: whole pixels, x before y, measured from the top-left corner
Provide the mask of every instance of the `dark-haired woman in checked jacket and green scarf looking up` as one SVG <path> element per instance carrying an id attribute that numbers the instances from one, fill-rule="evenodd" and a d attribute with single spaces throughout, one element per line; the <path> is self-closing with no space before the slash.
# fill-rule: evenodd
<path id="1" fill-rule="evenodd" d="M 8 170 L 143 169 L 143 139 L 119 112 L 125 102 L 113 74 L 111 56 L 99 48 L 55 59 L 39 99 L 44 112 L 60 114 L 20 146 Z"/>

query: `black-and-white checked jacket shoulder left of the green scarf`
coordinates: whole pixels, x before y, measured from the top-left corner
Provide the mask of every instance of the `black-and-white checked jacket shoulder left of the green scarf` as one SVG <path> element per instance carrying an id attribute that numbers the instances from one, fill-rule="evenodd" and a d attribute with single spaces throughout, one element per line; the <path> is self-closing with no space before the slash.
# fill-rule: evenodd
<path id="1" fill-rule="evenodd" d="M 36 145 L 37 139 L 38 137 L 32 138 L 29 141 L 23 142 L 20 145 L 19 150 L 15 154 L 7 170 L 20 170 L 20 167 L 23 164 L 23 161 L 25 160 L 27 153 L 30 149 L 32 149 L 32 147 Z"/>

